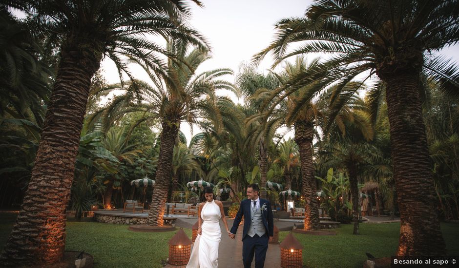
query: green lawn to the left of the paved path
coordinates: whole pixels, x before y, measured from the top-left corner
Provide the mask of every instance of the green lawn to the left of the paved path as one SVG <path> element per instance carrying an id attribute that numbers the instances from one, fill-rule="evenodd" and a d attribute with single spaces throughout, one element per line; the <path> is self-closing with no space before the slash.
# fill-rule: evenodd
<path id="1" fill-rule="evenodd" d="M 0 247 L 3 248 L 16 214 L 0 214 Z M 188 237 L 191 230 L 184 229 Z M 96 268 L 160 268 L 168 257 L 169 239 L 176 232 L 133 232 L 127 225 L 67 221 L 66 250 L 85 251 Z"/>

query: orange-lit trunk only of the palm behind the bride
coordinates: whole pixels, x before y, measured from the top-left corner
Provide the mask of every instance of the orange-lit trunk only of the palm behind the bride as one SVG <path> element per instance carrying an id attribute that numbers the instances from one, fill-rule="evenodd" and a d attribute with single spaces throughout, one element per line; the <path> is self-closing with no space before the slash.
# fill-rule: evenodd
<path id="1" fill-rule="evenodd" d="M 159 149 L 158 169 L 156 170 L 156 184 L 151 196 L 151 206 L 148 210 L 147 225 L 163 226 L 164 204 L 167 201 L 170 173 L 172 171 L 172 154 L 175 139 L 180 127 L 180 120 L 163 119 L 161 132 L 161 146 Z"/>

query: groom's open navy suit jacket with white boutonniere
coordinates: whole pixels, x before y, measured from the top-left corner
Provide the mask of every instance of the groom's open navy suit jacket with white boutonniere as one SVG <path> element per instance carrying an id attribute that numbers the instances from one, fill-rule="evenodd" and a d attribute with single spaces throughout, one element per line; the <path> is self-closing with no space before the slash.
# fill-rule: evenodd
<path id="1" fill-rule="evenodd" d="M 262 208 L 264 209 L 262 210 Z M 266 199 L 260 198 L 260 210 L 263 219 L 263 225 L 266 228 L 266 233 L 269 234 L 269 236 L 272 236 L 274 232 L 274 223 L 272 221 L 272 211 L 270 202 Z M 250 228 L 250 199 L 242 200 L 239 206 L 239 210 L 237 211 L 236 217 L 234 217 L 233 227 L 230 231 L 231 233 L 236 234 L 237 228 L 239 227 L 239 223 L 242 219 L 242 215 L 244 215 L 244 230 L 242 232 L 242 239 L 244 239 Z"/>

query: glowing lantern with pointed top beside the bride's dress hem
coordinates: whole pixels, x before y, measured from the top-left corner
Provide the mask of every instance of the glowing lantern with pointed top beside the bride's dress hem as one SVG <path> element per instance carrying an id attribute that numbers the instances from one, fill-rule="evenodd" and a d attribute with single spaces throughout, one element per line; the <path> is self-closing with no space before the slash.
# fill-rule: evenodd
<path id="1" fill-rule="evenodd" d="M 171 265 L 186 265 L 188 264 L 191 255 L 191 240 L 183 229 L 169 240 L 169 260 Z"/>

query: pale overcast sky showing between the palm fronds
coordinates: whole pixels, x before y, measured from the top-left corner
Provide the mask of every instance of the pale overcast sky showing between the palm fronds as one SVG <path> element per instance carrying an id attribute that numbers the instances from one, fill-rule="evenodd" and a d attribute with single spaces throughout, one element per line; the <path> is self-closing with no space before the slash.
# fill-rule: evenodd
<path id="1" fill-rule="evenodd" d="M 212 58 L 204 62 L 198 73 L 216 68 L 231 68 L 237 73 L 241 62 L 250 62 L 251 57 L 266 48 L 274 36 L 274 23 L 288 17 L 301 17 L 311 0 L 202 0 L 205 7 L 194 3 L 190 24 L 201 32 L 212 47 Z M 458 46 L 446 49 L 449 57 L 459 58 Z M 258 66 L 266 73 L 272 64 L 267 57 Z M 119 81 L 115 66 L 103 62 L 104 75 L 109 83 Z M 135 69 L 142 78 L 142 70 Z M 233 77 L 228 77 L 233 82 Z M 189 126 L 182 123 L 181 131 L 190 141 Z M 193 130 L 197 134 L 198 129 Z"/>

